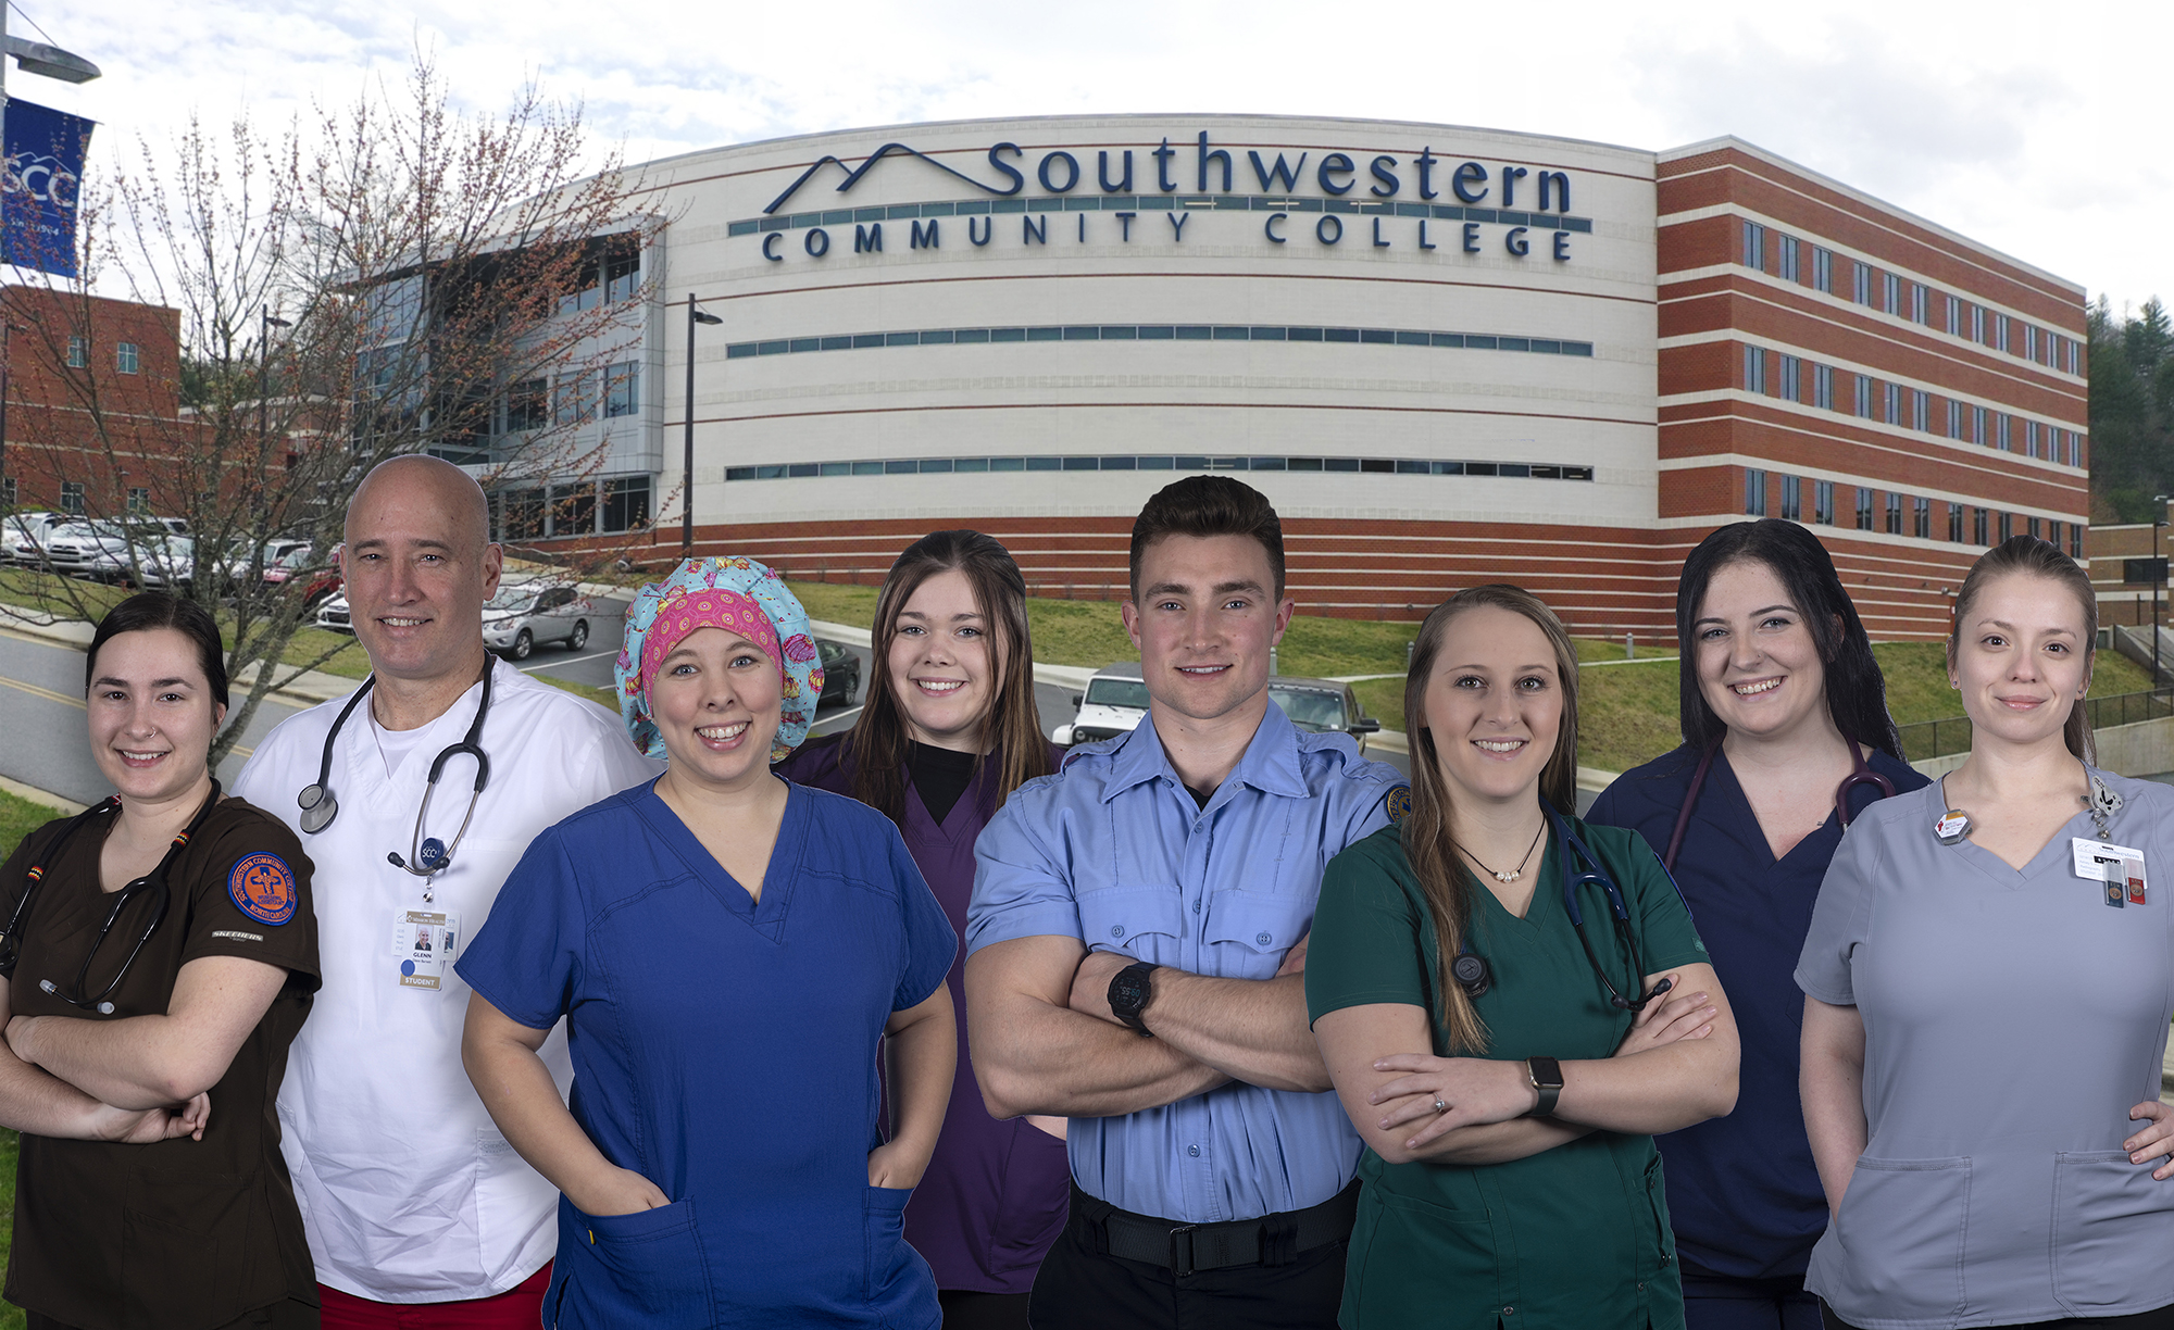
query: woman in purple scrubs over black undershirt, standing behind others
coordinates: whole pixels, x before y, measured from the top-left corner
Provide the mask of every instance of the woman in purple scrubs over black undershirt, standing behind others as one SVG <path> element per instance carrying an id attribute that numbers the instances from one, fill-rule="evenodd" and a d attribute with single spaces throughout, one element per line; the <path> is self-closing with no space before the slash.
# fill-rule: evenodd
<path id="1" fill-rule="evenodd" d="M 1059 761 L 1035 711 L 1020 565 L 976 530 L 913 541 L 876 598 L 872 654 L 854 728 L 776 769 L 896 821 L 963 934 L 974 839 L 1013 789 Z M 989 1117 L 967 1058 L 963 965 L 946 980 L 959 1071 L 935 1158 L 907 1204 L 907 1241 L 937 1273 L 946 1330 L 1024 1330 L 1035 1269 L 1065 1224 L 1065 1124 Z"/>

